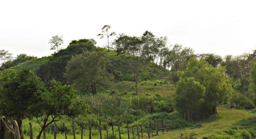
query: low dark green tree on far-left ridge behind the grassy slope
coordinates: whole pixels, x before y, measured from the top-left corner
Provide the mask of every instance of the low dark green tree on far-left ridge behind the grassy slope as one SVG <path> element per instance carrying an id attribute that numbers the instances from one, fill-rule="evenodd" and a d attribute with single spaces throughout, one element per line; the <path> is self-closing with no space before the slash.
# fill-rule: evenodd
<path id="1" fill-rule="evenodd" d="M 37 57 L 34 56 L 28 56 L 26 54 L 19 54 L 14 60 L 6 61 L 4 64 L 1 65 L 0 70 L 3 71 L 4 69 L 8 69 L 10 67 L 16 66 L 20 63 L 29 61 L 31 59 L 37 59 Z"/>

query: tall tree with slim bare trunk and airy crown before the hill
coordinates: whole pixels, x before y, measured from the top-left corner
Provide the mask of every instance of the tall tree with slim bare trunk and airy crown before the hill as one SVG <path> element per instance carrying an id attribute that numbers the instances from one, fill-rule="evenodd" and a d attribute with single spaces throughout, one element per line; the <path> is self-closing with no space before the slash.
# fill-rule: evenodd
<path id="1" fill-rule="evenodd" d="M 115 40 L 116 52 L 118 55 L 131 54 L 124 57 L 125 65 L 128 66 L 127 71 L 131 72 L 135 80 L 136 95 L 138 95 L 138 81 L 142 67 L 146 65 L 152 58 L 152 46 L 149 41 L 154 37 L 151 32 L 146 31 L 142 37 L 127 36 L 120 34 Z"/>

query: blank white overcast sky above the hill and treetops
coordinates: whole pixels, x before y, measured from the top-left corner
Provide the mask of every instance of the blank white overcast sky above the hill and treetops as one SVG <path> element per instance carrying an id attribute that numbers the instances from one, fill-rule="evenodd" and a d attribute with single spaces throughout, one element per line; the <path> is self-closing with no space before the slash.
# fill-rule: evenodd
<path id="1" fill-rule="evenodd" d="M 236 0 L 0 0 L 0 50 L 15 57 L 48 56 L 49 39 L 95 39 L 103 25 L 140 36 L 146 30 L 195 53 L 239 55 L 256 49 L 256 1 Z M 114 39 L 114 37 L 112 38 Z"/>

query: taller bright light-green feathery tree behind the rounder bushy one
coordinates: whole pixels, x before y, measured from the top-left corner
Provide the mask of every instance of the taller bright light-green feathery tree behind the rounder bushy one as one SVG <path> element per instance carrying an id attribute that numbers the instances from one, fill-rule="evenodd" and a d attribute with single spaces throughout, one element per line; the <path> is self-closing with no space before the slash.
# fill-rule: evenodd
<path id="1" fill-rule="evenodd" d="M 225 68 L 215 68 L 206 60 L 198 61 L 195 57 L 190 58 L 186 70 L 179 73 L 180 79 L 186 77 L 193 77 L 205 88 L 204 102 L 200 106 L 202 117 L 217 113 L 216 105 L 226 101 L 232 92 L 230 79 L 225 74 Z"/>

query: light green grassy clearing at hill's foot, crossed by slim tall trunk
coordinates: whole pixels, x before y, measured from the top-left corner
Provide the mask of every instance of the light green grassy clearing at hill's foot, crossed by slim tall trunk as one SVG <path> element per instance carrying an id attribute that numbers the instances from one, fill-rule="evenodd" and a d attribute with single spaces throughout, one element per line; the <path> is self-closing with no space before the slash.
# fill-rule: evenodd
<path id="1" fill-rule="evenodd" d="M 164 84 L 164 85 L 141 85 L 142 83 L 138 83 L 138 94 L 145 95 L 149 94 L 151 96 L 159 94 L 161 97 L 171 96 L 175 92 L 175 87 L 173 84 Z M 118 90 L 120 93 L 123 92 L 135 92 L 135 82 L 131 81 L 122 81 L 122 82 L 114 82 L 111 84 L 110 90 Z"/>

